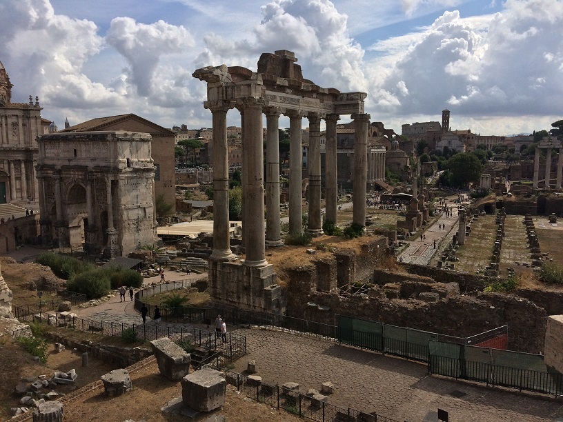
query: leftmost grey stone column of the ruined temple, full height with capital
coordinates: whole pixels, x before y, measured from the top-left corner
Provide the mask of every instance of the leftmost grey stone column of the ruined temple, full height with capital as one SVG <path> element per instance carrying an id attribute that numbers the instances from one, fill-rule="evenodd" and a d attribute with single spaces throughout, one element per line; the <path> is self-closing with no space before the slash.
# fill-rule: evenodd
<path id="1" fill-rule="evenodd" d="M 205 107 L 213 116 L 213 252 L 210 259 L 228 261 L 230 251 L 228 212 L 228 145 L 227 112 L 229 101 L 207 101 Z"/>

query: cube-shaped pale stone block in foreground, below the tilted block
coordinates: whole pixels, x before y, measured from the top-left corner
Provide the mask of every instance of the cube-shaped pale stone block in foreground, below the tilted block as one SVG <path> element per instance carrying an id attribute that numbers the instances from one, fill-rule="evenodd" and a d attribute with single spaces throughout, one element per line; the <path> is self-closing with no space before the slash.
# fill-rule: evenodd
<path id="1" fill-rule="evenodd" d="M 224 405 L 227 382 L 221 372 L 204 368 L 181 380 L 182 402 L 198 412 L 210 412 Z"/>

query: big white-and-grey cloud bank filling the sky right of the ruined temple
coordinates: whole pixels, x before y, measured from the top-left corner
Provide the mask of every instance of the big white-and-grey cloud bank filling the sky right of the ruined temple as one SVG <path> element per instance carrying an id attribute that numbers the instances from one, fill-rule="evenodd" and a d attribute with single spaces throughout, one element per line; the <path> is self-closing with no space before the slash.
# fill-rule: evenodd
<path id="1" fill-rule="evenodd" d="M 376 107 L 428 115 L 447 107 L 453 117 L 563 114 L 563 3 L 508 0 L 486 26 L 472 23 L 453 11 L 425 28 L 373 83 Z"/>

